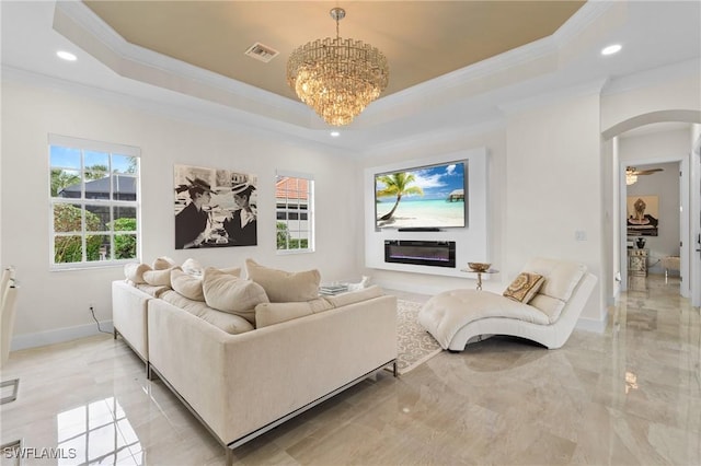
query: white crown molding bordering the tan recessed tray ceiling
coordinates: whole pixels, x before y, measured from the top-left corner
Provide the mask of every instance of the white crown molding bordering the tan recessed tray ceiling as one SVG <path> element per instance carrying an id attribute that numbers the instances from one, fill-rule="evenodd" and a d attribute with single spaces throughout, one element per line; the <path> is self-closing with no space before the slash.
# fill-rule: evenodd
<path id="1" fill-rule="evenodd" d="M 553 35 L 381 97 L 369 105 L 348 128 L 376 127 L 458 100 L 467 101 L 494 90 L 495 85 L 504 88 L 522 79 L 552 73 L 558 69 L 562 45 L 576 37 L 610 8 L 610 2 L 589 1 Z M 119 75 L 297 127 L 327 129 L 300 102 L 129 44 L 83 2 L 57 2 L 54 28 Z"/>

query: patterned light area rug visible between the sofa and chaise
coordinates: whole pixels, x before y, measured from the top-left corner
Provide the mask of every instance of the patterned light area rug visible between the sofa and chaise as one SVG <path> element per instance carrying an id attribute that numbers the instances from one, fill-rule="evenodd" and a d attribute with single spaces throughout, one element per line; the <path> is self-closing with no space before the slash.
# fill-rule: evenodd
<path id="1" fill-rule="evenodd" d="M 438 341 L 416 321 L 422 303 L 397 301 L 397 369 L 405 374 L 438 354 Z"/>

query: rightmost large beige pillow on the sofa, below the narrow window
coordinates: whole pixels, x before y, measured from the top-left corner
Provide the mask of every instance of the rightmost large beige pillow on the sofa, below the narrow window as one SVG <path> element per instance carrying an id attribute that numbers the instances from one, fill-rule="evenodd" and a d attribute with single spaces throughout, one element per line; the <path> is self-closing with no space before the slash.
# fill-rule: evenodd
<path id="1" fill-rule="evenodd" d="M 288 272 L 264 267 L 252 259 L 245 260 L 245 268 L 249 279 L 265 289 L 272 303 L 310 301 L 319 298 L 321 275 L 317 269 Z"/>

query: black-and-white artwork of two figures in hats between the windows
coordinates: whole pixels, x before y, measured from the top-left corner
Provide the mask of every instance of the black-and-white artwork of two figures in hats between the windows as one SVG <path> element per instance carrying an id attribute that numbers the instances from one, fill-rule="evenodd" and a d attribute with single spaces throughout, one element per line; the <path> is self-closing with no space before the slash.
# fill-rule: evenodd
<path id="1" fill-rule="evenodd" d="M 257 176 L 175 165 L 175 248 L 255 246 Z"/>

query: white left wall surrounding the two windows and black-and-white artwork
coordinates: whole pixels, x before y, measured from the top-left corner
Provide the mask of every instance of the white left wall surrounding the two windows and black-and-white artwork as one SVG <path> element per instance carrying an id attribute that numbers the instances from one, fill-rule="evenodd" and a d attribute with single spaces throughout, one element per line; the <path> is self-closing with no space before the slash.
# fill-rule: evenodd
<path id="1" fill-rule="evenodd" d="M 47 135 L 123 143 L 141 149 L 143 260 L 168 255 L 204 265 L 242 266 L 246 257 L 287 270 L 319 268 L 323 280 L 359 277 L 355 234 L 361 196 L 348 153 L 302 145 L 246 128 L 219 129 L 97 101 L 59 89 L 2 83 L 2 252 L 22 283 L 14 348 L 79 337 L 111 321 L 110 283 L 122 268 L 49 271 Z M 335 153 L 334 153 L 335 152 Z M 258 176 L 258 246 L 174 251 L 173 165 L 221 167 Z M 275 170 L 314 175 L 317 252 L 275 252 Z M 268 226 L 267 229 L 265 226 Z"/>

